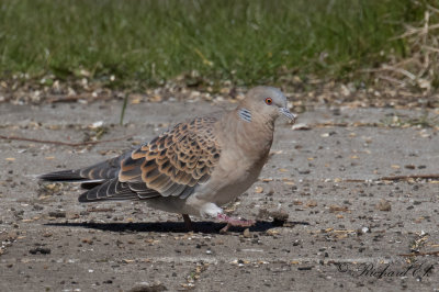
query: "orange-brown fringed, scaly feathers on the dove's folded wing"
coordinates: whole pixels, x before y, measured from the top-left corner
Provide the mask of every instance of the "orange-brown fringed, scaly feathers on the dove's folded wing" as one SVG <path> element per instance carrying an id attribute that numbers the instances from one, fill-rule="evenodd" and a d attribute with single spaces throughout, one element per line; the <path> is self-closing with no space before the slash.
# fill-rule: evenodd
<path id="1" fill-rule="evenodd" d="M 137 183 L 135 192 L 155 190 L 164 196 L 188 196 L 209 180 L 219 159 L 219 145 L 213 134 L 214 117 L 180 123 L 134 150 L 121 161 L 119 180 Z M 134 189 L 134 188 L 133 188 Z"/>

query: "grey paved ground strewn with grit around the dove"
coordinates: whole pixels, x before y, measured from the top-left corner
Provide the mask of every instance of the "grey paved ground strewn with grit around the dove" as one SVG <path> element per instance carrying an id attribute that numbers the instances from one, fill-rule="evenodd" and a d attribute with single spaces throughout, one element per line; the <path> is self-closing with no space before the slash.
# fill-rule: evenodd
<path id="1" fill-rule="evenodd" d="M 233 104 L 130 104 L 120 126 L 120 101 L 1 104 L 3 136 L 116 141 L 0 141 L 0 290 L 439 290 L 439 179 L 395 178 L 439 175 L 438 111 L 425 128 L 420 110 L 309 106 L 295 130 L 280 119 L 260 180 L 226 207 L 257 224 L 225 235 L 199 218 L 188 233 L 142 202 L 80 204 L 78 186 L 35 179 L 216 106 Z"/>

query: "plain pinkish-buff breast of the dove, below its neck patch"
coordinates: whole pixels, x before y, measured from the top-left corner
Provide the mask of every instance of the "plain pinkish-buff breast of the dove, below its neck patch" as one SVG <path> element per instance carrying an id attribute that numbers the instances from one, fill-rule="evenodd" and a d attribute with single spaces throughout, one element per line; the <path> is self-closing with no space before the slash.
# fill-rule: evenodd
<path id="1" fill-rule="evenodd" d="M 228 117 L 215 128 L 219 160 L 210 180 L 196 190 L 200 199 L 218 205 L 235 200 L 258 179 L 273 141 L 272 126 Z"/>

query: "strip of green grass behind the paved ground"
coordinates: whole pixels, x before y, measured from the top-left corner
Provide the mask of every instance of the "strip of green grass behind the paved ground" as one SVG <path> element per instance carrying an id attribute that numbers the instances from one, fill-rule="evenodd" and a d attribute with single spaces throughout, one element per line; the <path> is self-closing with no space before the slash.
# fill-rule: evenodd
<path id="1" fill-rule="evenodd" d="M 389 55 L 412 0 L 0 0 L 0 76 L 25 72 L 146 86 L 192 70 L 211 80 L 275 82 L 291 72 L 334 79 Z"/>

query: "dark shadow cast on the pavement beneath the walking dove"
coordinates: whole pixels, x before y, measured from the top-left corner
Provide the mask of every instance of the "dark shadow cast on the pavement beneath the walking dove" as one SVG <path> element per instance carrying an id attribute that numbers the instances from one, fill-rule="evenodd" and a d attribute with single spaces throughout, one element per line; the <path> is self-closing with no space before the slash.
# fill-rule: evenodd
<path id="1" fill-rule="evenodd" d="M 64 223 L 46 223 L 46 226 L 63 227 L 82 227 L 91 229 L 100 229 L 104 232 L 156 232 L 156 233 L 188 233 L 188 228 L 182 222 L 143 222 L 143 223 L 97 223 L 97 222 L 64 222 Z M 279 225 L 275 222 L 258 221 L 249 227 L 250 232 L 266 232 L 273 227 L 294 227 L 294 225 L 309 225 L 307 222 L 286 222 Z M 192 222 L 193 231 L 204 234 L 218 234 L 225 223 L 216 222 Z M 229 233 L 241 233 L 244 227 L 230 227 Z"/>

